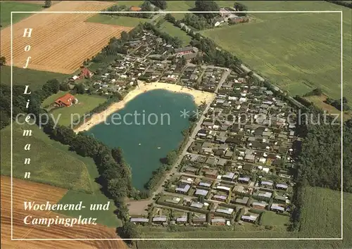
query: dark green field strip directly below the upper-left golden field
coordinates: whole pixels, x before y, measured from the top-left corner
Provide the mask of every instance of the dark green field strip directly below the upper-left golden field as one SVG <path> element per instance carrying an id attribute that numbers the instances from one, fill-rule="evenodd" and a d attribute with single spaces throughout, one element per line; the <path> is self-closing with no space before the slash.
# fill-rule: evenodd
<path id="1" fill-rule="evenodd" d="M 35 4 L 30 4 L 31 6 Z M 8 58 L 9 60 L 9 58 Z M 10 63 L 10 61 L 8 61 Z M 13 67 L 13 84 L 14 85 L 30 85 L 30 89 L 41 89 L 42 85 L 49 79 L 58 79 L 62 81 L 70 75 L 63 75 L 58 72 L 44 72 L 32 69 Z M 0 67 L 1 84 L 11 85 L 11 67 L 3 65 Z"/>

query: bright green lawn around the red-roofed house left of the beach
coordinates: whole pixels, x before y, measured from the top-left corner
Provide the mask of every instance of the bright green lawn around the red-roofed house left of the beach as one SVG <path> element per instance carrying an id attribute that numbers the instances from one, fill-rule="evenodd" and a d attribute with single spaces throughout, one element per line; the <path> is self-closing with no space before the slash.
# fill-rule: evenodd
<path id="1" fill-rule="evenodd" d="M 42 106 L 49 106 L 51 103 L 68 93 L 67 91 L 59 91 L 57 94 L 53 94 L 46 98 Z M 78 99 L 78 103 L 63 108 L 56 108 L 50 111 L 51 114 L 57 119 L 59 117 L 58 124 L 68 126 L 71 124 L 71 114 L 77 113 L 79 115 L 84 115 L 85 113 L 89 113 L 89 111 L 99 106 L 99 104 L 106 101 L 106 97 L 104 96 L 97 96 L 97 95 L 87 95 L 87 94 L 75 94 L 75 97 Z M 59 116 L 60 115 L 60 116 Z"/>

